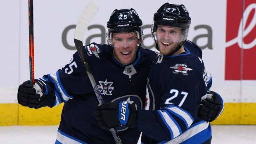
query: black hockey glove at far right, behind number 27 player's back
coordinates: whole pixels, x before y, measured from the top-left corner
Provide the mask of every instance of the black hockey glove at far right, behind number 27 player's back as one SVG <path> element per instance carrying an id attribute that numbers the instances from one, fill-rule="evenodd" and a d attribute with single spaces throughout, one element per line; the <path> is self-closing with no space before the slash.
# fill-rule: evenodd
<path id="1" fill-rule="evenodd" d="M 220 95 L 213 91 L 207 92 L 207 97 L 204 99 L 197 111 L 197 115 L 203 120 L 212 122 L 224 109 L 224 102 Z"/>

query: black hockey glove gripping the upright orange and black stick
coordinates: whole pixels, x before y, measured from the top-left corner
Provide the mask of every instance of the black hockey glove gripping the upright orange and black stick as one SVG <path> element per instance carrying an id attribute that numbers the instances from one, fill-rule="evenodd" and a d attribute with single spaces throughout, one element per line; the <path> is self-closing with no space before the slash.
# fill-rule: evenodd
<path id="1" fill-rule="evenodd" d="M 41 106 L 47 99 L 46 88 L 42 80 L 35 79 L 35 85 L 30 85 L 30 81 L 25 81 L 19 85 L 18 103 L 22 106 L 35 108 Z"/>

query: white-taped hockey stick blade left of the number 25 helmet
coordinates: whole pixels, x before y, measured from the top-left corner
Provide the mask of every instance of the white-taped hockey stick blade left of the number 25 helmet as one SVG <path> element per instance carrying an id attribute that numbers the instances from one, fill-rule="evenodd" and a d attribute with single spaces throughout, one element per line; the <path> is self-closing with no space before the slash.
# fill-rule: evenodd
<path id="1" fill-rule="evenodd" d="M 98 4 L 96 2 L 90 2 L 83 10 L 81 16 L 76 24 L 76 30 L 74 34 L 74 39 L 83 41 L 83 35 L 85 30 L 91 21 L 92 17 L 98 11 Z"/>

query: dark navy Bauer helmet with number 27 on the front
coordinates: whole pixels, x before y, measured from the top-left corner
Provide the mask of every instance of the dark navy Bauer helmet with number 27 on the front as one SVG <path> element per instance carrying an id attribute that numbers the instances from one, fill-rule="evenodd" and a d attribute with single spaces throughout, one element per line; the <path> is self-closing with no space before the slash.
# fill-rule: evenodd
<path id="1" fill-rule="evenodd" d="M 191 18 L 189 17 L 189 13 L 184 5 L 173 5 L 166 2 L 154 14 L 154 24 L 152 24 L 151 27 L 151 36 L 155 40 L 156 49 L 159 50 L 154 34 L 158 26 L 181 28 L 182 35 L 184 37 L 179 45 L 179 47 L 181 47 L 187 40 L 190 24 Z"/>

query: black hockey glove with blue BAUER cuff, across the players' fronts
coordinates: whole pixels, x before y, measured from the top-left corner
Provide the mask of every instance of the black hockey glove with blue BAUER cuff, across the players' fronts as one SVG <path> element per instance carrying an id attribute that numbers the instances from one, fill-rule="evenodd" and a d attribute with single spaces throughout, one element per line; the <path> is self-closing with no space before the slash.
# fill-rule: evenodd
<path id="1" fill-rule="evenodd" d="M 97 107 L 93 111 L 96 120 L 102 129 L 111 129 L 117 126 L 133 127 L 136 118 L 135 103 L 129 104 L 128 102 L 114 103 L 109 102 Z"/>

